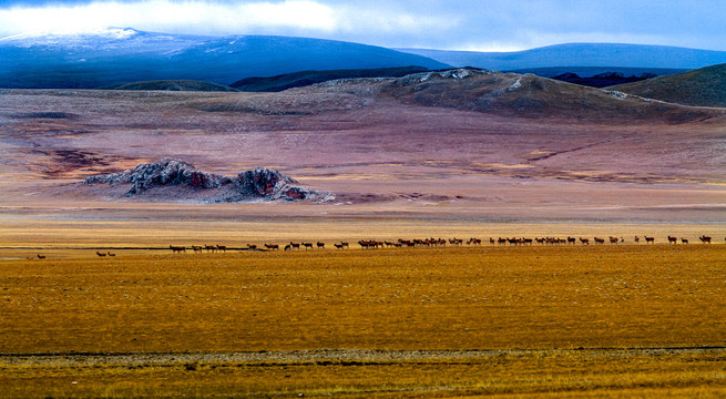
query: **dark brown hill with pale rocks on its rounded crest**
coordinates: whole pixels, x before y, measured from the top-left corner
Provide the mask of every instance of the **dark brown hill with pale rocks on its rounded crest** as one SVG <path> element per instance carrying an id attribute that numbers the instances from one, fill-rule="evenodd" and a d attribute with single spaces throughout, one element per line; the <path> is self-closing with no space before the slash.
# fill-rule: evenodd
<path id="1" fill-rule="evenodd" d="M 385 92 L 406 103 L 524 117 L 661 119 L 678 123 L 718 114 L 653 103 L 618 91 L 586 88 L 532 74 L 476 69 L 408 75 L 393 81 Z"/>

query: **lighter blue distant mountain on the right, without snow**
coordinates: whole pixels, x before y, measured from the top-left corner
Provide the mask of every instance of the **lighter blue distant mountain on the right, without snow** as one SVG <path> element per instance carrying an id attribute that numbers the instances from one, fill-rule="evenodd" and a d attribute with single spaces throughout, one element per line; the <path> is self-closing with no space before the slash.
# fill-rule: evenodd
<path id="1" fill-rule="evenodd" d="M 428 57 L 453 66 L 476 66 L 495 71 L 607 66 L 597 73 L 623 72 L 620 70 L 622 68 L 636 68 L 644 73 L 652 72 L 648 69 L 653 68 L 693 70 L 726 63 L 726 51 L 621 43 L 566 43 L 513 52 L 397 50 Z M 570 70 L 562 72 L 577 73 Z"/>

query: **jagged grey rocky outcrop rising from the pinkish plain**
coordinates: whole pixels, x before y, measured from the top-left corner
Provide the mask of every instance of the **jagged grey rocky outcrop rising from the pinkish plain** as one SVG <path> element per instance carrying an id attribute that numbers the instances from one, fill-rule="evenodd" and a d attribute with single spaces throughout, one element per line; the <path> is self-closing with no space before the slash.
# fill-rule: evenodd
<path id="1" fill-rule="evenodd" d="M 188 162 L 172 158 L 140 164 L 120 173 L 91 176 L 83 184 L 129 187 L 123 194 L 126 197 L 142 196 L 165 202 L 327 201 L 331 197 L 330 193 L 304 187 L 296 180 L 265 167 L 231 177 L 197 171 Z"/>

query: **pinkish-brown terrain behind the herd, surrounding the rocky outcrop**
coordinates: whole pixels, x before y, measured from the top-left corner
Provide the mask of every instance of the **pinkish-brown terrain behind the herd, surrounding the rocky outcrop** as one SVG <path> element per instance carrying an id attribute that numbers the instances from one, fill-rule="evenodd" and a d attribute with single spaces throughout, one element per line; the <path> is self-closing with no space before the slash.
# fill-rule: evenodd
<path id="1" fill-rule="evenodd" d="M 4 90 L 0 154 L 4 222 L 726 223 L 726 110 L 476 70 L 279 93 Z M 82 184 L 163 157 L 269 167 L 335 198 L 112 201 Z"/>

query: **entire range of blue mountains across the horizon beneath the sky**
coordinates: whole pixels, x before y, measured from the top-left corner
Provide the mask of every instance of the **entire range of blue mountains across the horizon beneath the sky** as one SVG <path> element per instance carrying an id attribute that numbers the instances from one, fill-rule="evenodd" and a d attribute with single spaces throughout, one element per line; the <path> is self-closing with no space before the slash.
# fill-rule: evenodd
<path id="1" fill-rule="evenodd" d="M 518 52 L 391 50 L 320 39 L 203 37 L 131 28 L 0 39 L 0 88 L 10 89 L 280 91 L 331 79 L 391 78 L 452 65 L 609 86 L 719 63 L 726 63 L 726 51 L 617 43 Z"/>

